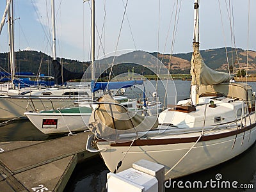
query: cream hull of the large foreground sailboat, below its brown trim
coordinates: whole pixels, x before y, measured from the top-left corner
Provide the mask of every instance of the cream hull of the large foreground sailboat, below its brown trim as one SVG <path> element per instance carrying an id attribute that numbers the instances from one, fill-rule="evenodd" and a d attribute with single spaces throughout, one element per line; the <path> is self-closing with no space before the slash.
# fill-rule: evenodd
<path id="1" fill-rule="evenodd" d="M 191 173 L 199 172 L 217 164 L 223 163 L 233 157 L 238 156 L 255 143 L 256 128 L 240 132 L 232 136 L 218 138 L 214 140 L 195 142 L 172 143 L 165 145 L 137 145 L 129 149 L 129 145 L 119 145 L 118 143 L 109 145 L 108 142 L 97 141 L 97 147 L 107 148 L 101 152 L 101 156 L 111 172 L 114 172 L 116 165 L 122 161 L 122 166 L 118 172 L 131 168 L 132 163 L 140 159 L 146 159 L 165 166 L 165 173 L 189 151 L 191 151 L 180 161 L 173 170 L 165 175 L 165 179 L 182 177 Z M 143 141 L 141 141 L 143 142 Z"/>

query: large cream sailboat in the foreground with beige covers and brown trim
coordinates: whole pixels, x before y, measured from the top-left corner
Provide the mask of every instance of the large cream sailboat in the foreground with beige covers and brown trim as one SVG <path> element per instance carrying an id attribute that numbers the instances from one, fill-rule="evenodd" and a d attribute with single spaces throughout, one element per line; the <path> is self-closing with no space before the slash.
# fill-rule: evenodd
<path id="1" fill-rule="evenodd" d="M 111 172 L 147 159 L 165 167 L 165 179 L 199 172 L 238 156 L 255 143 L 256 113 L 252 88 L 230 83 L 229 74 L 207 67 L 199 52 L 199 4 L 195 0 L 191 59 L 191 99 L 141 118 L 115 102 L 99 102 L 90 119 L 86 148 L 100 152 Z M 157 125 L 158 123 L 158 125 Z M 97 149 L 92 146 L 97 146 Z"/>

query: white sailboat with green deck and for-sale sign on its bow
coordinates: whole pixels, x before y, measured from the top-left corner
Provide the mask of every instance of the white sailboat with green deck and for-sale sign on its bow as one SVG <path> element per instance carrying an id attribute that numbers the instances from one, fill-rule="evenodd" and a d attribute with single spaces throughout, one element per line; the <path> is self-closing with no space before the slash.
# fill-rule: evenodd
<path id="1" fill-rule="evenodd" d="M 134 81 L 135 82 L 135 81 Z M 125 83 L 125 82 L 122 82 Z M 143 81 L 140 81 L 143 83 Z M 133 84 L 132 84 L 133 86 Z M 157 115 L 161 109 L 161 102 L 153 102 L 139 99 L 128 99 L 125 95 L 112 96 L 113 99 L 122 104 L 130 111 L 150 115 Z M 156 100 L 158 100 L 156 98 Z M 56 108 L 44 111 L 27 111 L 24 113 L 35 127 L 44 134 L 60 134 L 63 132 L 77 132 L 88 129 L 92 109 L 95 106 L 90 105 L 91 101 L 79 101 L 79 105 L 72 107 Z M 147 108 L 145 108 L 147 106 Z"/>

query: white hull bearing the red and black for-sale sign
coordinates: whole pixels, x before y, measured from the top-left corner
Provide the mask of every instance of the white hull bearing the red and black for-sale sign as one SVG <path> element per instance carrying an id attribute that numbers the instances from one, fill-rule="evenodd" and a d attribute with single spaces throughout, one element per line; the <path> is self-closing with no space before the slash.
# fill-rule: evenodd
<path id="1" fill-rule="evenodd" d="M 44 134 L 77 132 L 88 129 L 90 113 L 24 113 L 35 127 Z"/>

